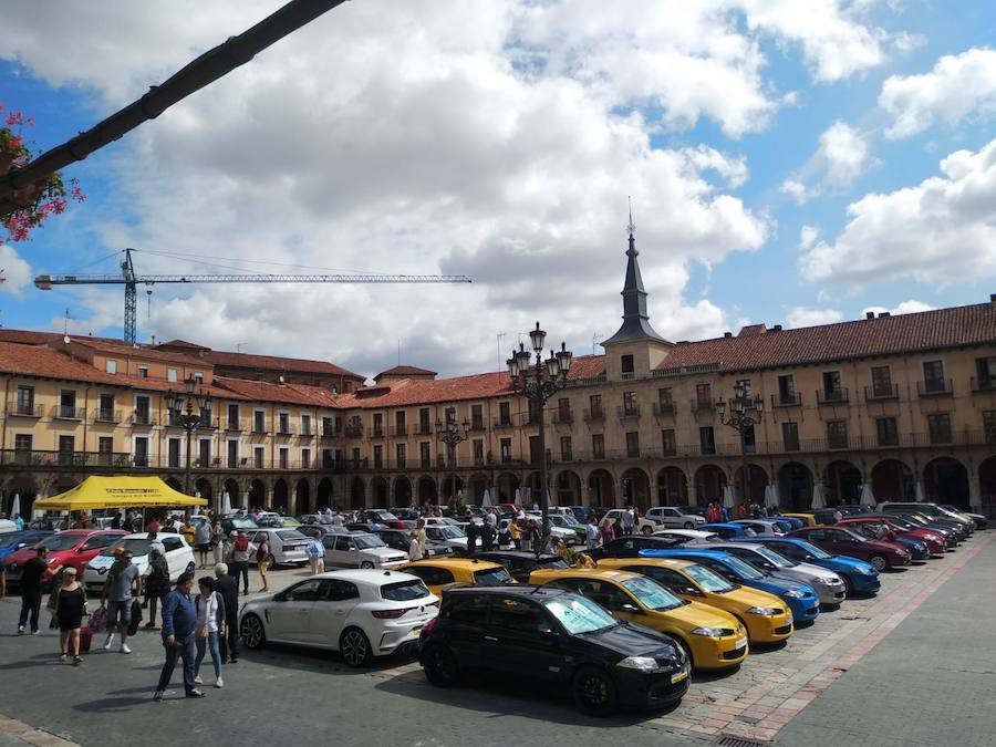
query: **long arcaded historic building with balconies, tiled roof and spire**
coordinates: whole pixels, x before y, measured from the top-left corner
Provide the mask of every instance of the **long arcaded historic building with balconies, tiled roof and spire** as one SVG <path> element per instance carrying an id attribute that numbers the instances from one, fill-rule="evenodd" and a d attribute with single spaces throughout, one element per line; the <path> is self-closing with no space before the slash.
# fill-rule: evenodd
<path id="1" fill-rule="evenodd" d="M 996 298 L 668 342 L 650 323 L 632 236 L 626 256 L 620 330 L 603 355 L 574 359 L 543 413 L 558 502 L 704 502 L 726 485 L 762 500 L 771 485 L 785 508 L 802 509 L 815 486 L 832 505 L 868 484 L 880 500 L 994 511 Z M 439 380 L 398 366 L 359 386 L 323 362 L 3 330 L 6 506 L 93 473 L 151 471 L 181 487 L 187 435 L 166 400 L 188 377 L 212 396 L 190 471 L 216 500 L 228 491 L 234 505 L 302 512 L 539 489 L 538 414 L 506 373 Z M 764 403 L 743 433 L 717 407 L 737 385 Z M 466 436 L 452 459 L 438 439 L 447 421 Z"/>

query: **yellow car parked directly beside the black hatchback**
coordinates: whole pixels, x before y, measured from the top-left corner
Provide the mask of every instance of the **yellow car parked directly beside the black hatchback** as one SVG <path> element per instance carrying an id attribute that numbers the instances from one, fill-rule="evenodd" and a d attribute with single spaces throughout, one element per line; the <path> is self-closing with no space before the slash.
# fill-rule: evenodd
<path id="1" fill-rule="evenodd" d="M 529 583 L 566 589 L 598 602 L 616 620 L 665 633 L 697 670 L 725 670 L 747 657 L 747 629 L 728 612 L 686 602 L 640 573 L 604 568 L 539 570 Z"/>

